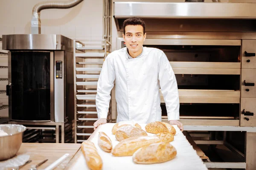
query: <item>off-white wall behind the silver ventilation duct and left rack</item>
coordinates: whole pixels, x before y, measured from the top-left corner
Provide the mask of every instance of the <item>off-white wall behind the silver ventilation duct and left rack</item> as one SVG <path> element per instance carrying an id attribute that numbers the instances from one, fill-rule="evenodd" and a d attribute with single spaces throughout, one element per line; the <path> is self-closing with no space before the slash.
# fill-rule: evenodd
<path id="1" fill-rule="evenodd" d="M 42 1 L 49 0 L 0 0 L 0 37 L 3 34 L 31 34 L 32 8 Z M 70 9 L 42 10 L 41 34 L 61 34 L 71 39 L 102 39 L 103 0 L 84 0 Z M 3 52 L 2 43 L 0 51 Z M 0 56 L 0 65 L 7 66 L 8 57 Z M 0 68 L 0 77 L 8 77 L 7 68 Z M 8 81 L 0 81 L 0 90 L 5 90 L 7 84 Z M 6 94 L 0 94 L 0 102 L 8 104 Z M 8 109 L 1 110 L 0 116 L 8 117 Z"/>

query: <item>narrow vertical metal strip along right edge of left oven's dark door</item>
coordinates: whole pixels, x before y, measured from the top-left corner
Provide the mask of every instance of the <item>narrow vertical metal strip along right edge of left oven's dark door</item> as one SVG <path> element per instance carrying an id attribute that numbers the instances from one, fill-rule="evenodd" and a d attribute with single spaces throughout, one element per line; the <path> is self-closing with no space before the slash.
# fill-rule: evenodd
<path id="1" fill-rule="evenodd" d="M 54 53 L 50 52 L 50 121 L 54 122 Z"/>

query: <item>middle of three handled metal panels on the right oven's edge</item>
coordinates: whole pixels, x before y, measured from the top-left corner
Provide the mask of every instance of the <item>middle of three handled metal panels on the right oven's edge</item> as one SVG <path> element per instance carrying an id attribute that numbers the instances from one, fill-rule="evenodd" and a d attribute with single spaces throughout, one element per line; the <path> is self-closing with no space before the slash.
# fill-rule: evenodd
<path id="1" fill-rule="evenodd" d="M 254 83 L 254 86 L 245 86 Z M 256 97 L 256 69 L 241 69 L 241 97 Z"/>

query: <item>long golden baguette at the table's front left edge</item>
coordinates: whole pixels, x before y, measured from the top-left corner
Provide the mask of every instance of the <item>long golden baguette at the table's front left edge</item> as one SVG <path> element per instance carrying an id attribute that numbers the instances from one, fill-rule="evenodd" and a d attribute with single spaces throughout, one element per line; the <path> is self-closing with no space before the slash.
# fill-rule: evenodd
<path id="1" fill-rule="evenodd" d="M 91 170 L 102 170 L 102 159 L 93 142 L 88 140 L 82 142 L 81 150 L 84 154 L 86 164 Z"/>

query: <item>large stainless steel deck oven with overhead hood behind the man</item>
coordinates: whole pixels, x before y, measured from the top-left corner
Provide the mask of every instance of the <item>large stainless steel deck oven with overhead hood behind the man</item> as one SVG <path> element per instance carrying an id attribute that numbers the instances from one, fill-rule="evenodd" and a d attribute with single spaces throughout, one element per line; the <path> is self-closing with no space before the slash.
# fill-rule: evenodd
<path id="1" fill-rule="evenodd" d="M 244 159 L 243 165 L 231 167 L 242 165 L 247 170 L 256 168 L 256 149 L 252 149 L 256 140 L 255 7 L 253 3 L 113 5 L 116 49 L 125 47 L 124 20 L 141 17 L 147 33 L 144 46 L 163 50 L 175 73 L 184 129 L 224 131 L 222 143 L 240 148 L 232 146 Z M 162 121 L 167 122 L 162 95 L 161 108 Z"/>

